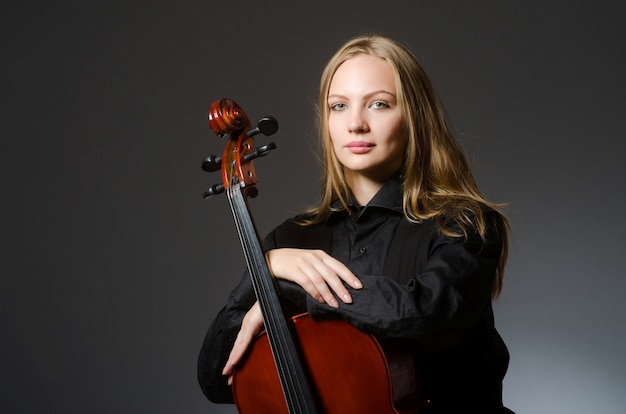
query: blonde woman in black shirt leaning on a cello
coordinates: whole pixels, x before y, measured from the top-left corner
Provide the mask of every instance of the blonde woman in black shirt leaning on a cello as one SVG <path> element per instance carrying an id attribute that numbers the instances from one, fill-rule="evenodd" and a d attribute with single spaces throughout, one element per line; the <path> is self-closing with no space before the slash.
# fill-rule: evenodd
<path id="1" fill-rule="evenodd" d="M 507 220 L 481 195 L 423 69 L 391 39 L 352 39 L 323 72 L 319 115 L 321 201 L 264 242 L 283 299 L 400 340 L 428 413 L 510 412 L 491 306 Z M 210 400 L 232 402 L 230 376 L 262 327 L 246 277 L 200 353 Z"/>

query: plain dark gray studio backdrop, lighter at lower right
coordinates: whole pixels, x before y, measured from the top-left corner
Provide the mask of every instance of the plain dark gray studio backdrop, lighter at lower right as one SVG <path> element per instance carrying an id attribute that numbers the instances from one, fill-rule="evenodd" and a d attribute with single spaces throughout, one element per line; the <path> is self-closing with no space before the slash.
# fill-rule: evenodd
<path id="1" fill-rule="evenodd" d="M 243 269 L 226 199 L 200 197 L 224 145 L 206 111 L 280 121 L 257 163 L 265 234 L 317 197 L 319 75 L 365 32 L 416 53 L 510 203 L 506 404 L 623 412 L 623 2 L 95 3 L 2 13 L 0 412 L 234 412 L 195 380 Z"/>

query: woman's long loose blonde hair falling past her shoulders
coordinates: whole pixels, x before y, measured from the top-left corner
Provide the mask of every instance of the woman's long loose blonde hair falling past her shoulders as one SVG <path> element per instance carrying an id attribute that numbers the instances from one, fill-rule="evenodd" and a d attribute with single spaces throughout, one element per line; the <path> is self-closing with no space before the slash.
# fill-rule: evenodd
<path id="1" fill-rule="evenodd" d="M 311 214 L 308 223 L 322 221 L 335 200 L 347 209 L 350 191 L 331 143 L 327 98 L 337 68 L 346 60 L 362 54 L 384 59 L 396 75 L 397 99 L 407 134 L 402 168 L 406 219 L 413 223 L 433 219 L 439 230 L 450 237 L 467 237 L 469 228 L 484 239 L 488 225 L 483 206 L 498 211 L 500 205 L 482 196 L 467 157 L 450 132 L 439 97 L 415 56 L 402 44 L 375 35 L 359 36 L 348 41 L 331 57 L 322 73 L 318 107 L 322 192 L 319 205 L 308 212 Z M 503 221 L 499 229 L 503 249 L 492 292 L 494 298 L 502 289 L 508 253 L 508 222 L 499 214 Z"/>

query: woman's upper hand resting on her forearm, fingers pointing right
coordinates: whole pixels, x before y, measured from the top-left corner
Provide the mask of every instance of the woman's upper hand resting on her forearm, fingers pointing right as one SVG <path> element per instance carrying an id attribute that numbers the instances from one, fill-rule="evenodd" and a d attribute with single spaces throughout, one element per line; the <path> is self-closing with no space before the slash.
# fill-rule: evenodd
<path id="1" fill-rule="evenodd" d="M 343 282 L 355 289 L 363 287 L 343 263 L 323 250 L 274 249 L 266 257 L 275 277 L 297 283 L 318 302 L 335 308 L 339 306 L 335 295 L 344 303 L 352 303 Z"/>

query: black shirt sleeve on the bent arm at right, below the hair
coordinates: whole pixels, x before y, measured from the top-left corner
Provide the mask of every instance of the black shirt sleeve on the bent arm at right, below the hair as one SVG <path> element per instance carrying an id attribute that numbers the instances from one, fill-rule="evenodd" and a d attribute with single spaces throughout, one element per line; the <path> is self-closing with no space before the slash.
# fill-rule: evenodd
<path id="1" fill-rule="evenodd" d="M 485 239 L 434 236 L 429 260 L 401 285 L 392 277 L 357 275 L 351 304 L 332 308 L 307 298 L 313 318 L 338 318 L 380 338 L 411 340 L 417 348 L 454 347 L 491 306 L 491 289 L 502 251 L 496 227 Z M 396 280 L 401 280 L 395 278 Z"/>

